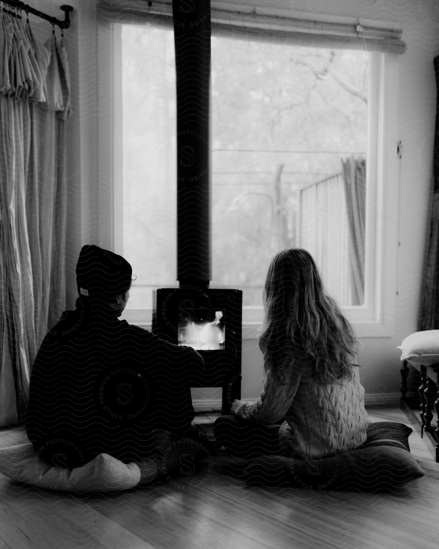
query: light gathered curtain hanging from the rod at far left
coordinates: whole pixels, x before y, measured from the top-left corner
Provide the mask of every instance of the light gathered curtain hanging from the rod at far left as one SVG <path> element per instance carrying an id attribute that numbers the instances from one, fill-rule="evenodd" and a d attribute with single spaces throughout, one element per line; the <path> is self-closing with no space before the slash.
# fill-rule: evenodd
<path id="1" fill-rule="evenodd" d="M 29 23 L 4 12 L 0 25 L 0 427 L 5 427 L 24 417 L 33 360 L 65 304 L 70 76 L 64 43 L 54 34 L 36 43 Z"/>

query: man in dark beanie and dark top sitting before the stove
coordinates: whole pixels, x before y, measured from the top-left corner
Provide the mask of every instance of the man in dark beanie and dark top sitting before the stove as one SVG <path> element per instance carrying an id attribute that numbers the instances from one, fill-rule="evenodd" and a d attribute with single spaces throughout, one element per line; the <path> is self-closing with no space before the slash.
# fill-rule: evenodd
<path id="1" fill-rule="evenodd" d="M 131 265 L 86 245 L 76 266 L 79 297 L 49 330 L 33 364 L 26 432 L 35 451 L 64 467 L 106 452 L 122 461 L 151 452 L 153 429 L 188 432 L 190 386 L 201 356 L 120 321 Z"/>

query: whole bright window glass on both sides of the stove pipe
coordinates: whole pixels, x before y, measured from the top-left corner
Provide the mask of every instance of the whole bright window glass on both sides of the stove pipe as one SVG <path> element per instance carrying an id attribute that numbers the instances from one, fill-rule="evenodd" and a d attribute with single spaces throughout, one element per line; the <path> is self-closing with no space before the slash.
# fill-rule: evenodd
<path id="1" fill-rule="evenodd" d="M 117 25 L 116 33 L 117 251 L 137 275 L 128 307 L 148 310 L 154 288 L 176 285 L 173 32 Z M 261 307 L 269 260 L 299 246 L 341 306 L 368 308 L 379 57 L 212 37 L 212 287 L 242 289 L 244 306 Z"/>

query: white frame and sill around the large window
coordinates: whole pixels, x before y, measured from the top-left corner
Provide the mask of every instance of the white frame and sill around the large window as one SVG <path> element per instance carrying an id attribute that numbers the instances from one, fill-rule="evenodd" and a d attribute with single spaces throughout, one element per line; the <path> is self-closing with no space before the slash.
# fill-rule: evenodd
<path id="1" fill-rule="evenodd" d="M 122 23 L 98 34 L 98 244 L 122 254 Z M 357 337 L 392 337 L 390 296 L 396 290 L 398 54 L 371 52 L 368 115 L 365 302 L 342 312 Z M 374 113 L 372 113 L 374 111 Z M 385 182 L 385 184 L 384 184 Z M 178 282 L 176 281 L 176 285 Z M 263 307 L 243 307 L 243 339 L 257 339 Z M 150 329 L 150 309 L 130 309 L 122 317 Z"/>

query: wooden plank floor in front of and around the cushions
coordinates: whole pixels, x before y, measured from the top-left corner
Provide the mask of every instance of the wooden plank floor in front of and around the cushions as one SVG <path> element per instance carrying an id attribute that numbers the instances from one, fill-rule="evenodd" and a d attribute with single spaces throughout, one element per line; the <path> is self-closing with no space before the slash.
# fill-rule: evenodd
<path id="1" fill-rule="evenodd" d="M 206 464 L 154 488 L 78 496 L 0 475 L 0 548 L 437 548 L 439 464 L 431 440 L 420 438 L 410 412 L 368 412 L 372 421 L 415 429 L 410 447 L 425 477 L 386 495 L 261 489 Z M 0 434 L 0 444 L 7 436 Z"/>

